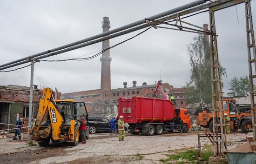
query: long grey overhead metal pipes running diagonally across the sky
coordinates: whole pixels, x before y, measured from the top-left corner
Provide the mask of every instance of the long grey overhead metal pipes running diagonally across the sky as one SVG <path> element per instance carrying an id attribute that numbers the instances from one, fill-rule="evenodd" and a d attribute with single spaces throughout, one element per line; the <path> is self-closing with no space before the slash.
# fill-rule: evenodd
<path id="1" fill-rule="evenodd" d="M 189 3 L 189 4 L 183 5 L 183 6 L 181 6 L 181 7 L 176 7 L 176 8 L 174 8 L 174 9 L 168 10 L 168 11 L 166 11 L 166 12 L 159 13 L 159 14 L 157 14 L 157 15 L 148 17 L 148 19 L 152 19 L 152 20 L 159 19 L 159 18 L 162 18 L 162 17 L 164 17 L 164 16 L 167 16 L 167 15 L 170 15 L 170 14 L 173 14 L 173 13 L 177 13 L 177 12 L 180 12 L 180 11 L 185 10 L 185 9 L 188 9 L 188 8 L 201 5 L 201 4 L 205 3 L 206 1 L 209 1 L 209 0 L 196 0 L 196 1 L 194 1 L 194 2 L 191 2 L 191 3 Z M 116 28 L 116 29 L 114 29 L 114 30 L 110 30 L 110 31 L 108 31 L 108 32 L 101 33 L 101 34 L 98 34 L 98 35 L 89 37 L 89 38 L 87 38 L 87 39 L 82 39 L 82 40 L 76 41 L 76 42 L 74 42 L 74 43 L 70 43 L 70 44 L 67 44 L 67 45 L 64 45 L 64 46 L 60 46 L 60 47 L 57 47 L 57 48 L 54 48 L 54 49 L 51 49 L 51 50 L 48 50 L 48 51 L 36 53 L 36 54 L 31 55 L 31 56 L 28 56 L 28 57 L 26 57 L 26 58 L 21 58 L 21 59 L 18 59 L 18 60 L 15 60 L 15 61 L 12 61 L 12 62 L 3 64 L 3 65 L 0 65 L 0 68 L 1 68 L 1 67 L 4 67 L 4 66 L 13 65 L 13 64 L 16 64 L 16 63 L 19 63 L 19 62 L 22 64 L 21 61 L 27 60 L 27 58 L 35 58 L 35 57 L 39 57 L 39 56 L 45 55 L 45 54 L 47 54 L 47 53 L 59 51 L 59 50 L 65 49 L 65 48 L 69 48 L 69 47 L 71 47 L 71 46 L 76 46 L 76 45 L 79 45 L 79 44 L 82 44 L 82 43 L 85 43 L 85 42 L 88 42 L 88 41 L 91 41 L 91 40 L 94 40 L 94 39 L 98 39 L 98 38 L 101 38 L 101 37 L 104 37 L 104 36 L 107 36 L 107 35 L 110 35 L 110 34 L 113 34 L 113 33 L 117 33 L 117 32 L 126 30 L 126 29 L 131 28 L 131 27 L 134 27 L 134 26 L 139 26 L 139 25 L 144 24 L 144 23 L 145 23 L 145 20 L 144 20 L 144 19 L 143 19 L 143 20 L 139 20 L 139 21 L 136 21 L 136 22 L 134 22 L 134 23 L 128 24 L 128 25 L 126 25 L 126 26 L 121 26 L 121 27 Z M 13 65 L 13 66 L 14 66 L 14 65 Z M 17 66 L 17 65 L 15 65 L 15 66 Z M 2 70 L 2 69 L 1 69 L 1 70 Z"/>

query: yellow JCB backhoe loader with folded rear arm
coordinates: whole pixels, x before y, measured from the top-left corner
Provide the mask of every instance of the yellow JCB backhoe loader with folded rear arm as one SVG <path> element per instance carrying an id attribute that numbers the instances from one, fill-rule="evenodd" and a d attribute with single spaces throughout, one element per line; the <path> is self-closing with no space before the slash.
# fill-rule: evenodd
<path id="1" fill-rule="evenodd" d="M 30 134 L 34 134 L 40 146 L 47 146 L 50 140 L 68 142 L 75 146 L 79 142 L 79 127 L 86 125 L 87 121 L 88 113 L 84 102 L 54 100 L 53 91 L 45 88 Z"/>

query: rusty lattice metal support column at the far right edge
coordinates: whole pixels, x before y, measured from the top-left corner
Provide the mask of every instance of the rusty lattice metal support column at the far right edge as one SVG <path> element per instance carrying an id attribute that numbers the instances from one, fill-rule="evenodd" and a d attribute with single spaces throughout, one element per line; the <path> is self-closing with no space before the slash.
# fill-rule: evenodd
<path id="1" fill-rule="evenodd" d="M 254 32 L 253 32 L 250 0 L 245 0 L 245 18 L 246 18 L 247 49 L 248 49 L 248 63 L 249 63 L 253 141 L 256 141 L 256 122 L 255 122 L 256 106 L 255 106 L 255 100 L 254 100 L 254 94 L 256 94 L 256 91 L 254 90 L 254 87 L 253 87 L 253 79 L 256 78 L 256 48 L 255 48 L 255 38 L 254 38 Z"/>

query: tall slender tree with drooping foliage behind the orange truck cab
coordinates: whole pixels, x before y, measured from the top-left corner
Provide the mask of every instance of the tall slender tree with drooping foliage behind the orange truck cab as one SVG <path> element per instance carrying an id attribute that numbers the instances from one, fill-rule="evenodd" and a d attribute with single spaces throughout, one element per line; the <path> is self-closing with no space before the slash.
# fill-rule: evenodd
<path id="1" fill-rule="evenodd" d="M 194 102 L 211 102 L 211 62 L 209 41 L 203 34 L 193 38 L 187 46 L 190 62 L 190 81 L 186 84 L 187 104 Z M 221 67 L 221 75 L 226 75 Z"/>

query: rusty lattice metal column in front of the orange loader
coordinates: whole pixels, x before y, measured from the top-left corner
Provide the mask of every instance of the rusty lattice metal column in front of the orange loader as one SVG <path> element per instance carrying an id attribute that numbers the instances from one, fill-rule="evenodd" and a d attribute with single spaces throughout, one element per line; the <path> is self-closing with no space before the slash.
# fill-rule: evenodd
<path id="1" fill-rule="evenodd" d="M 209 10 L 210 33 L 216 33 L 214 11 Z M 210 35 L 210 54 L 211 54 L 211 80 L 212 80 L 212 112 L 213 112 L 213 140 L 215 146 L 214 155 L 223 155 L 227 150 L 225 120 L 223 119 L 223 100 L 222 100 L 222 79 L 218 57 L 217 37 Z M 218 100 L 218 105 L 217 105 Z M 219 112 L 219 118 L 217 113 Z M 220 129 L 220 133 L 219 133 Z M 219 138 L 220 136 L 220 138 Z"/>

